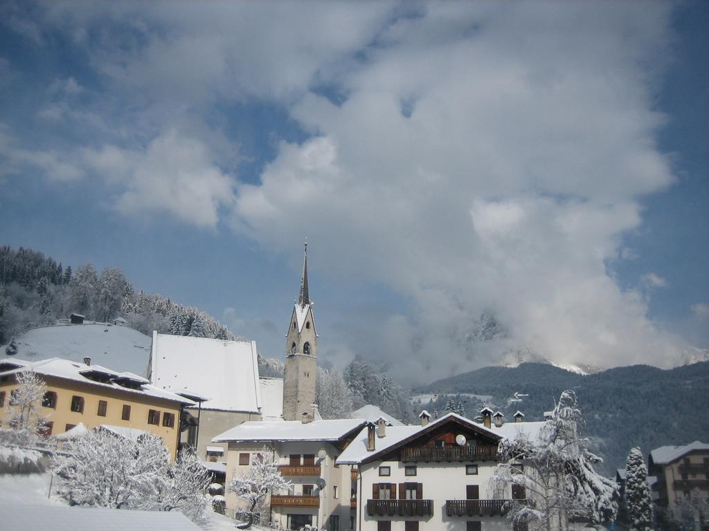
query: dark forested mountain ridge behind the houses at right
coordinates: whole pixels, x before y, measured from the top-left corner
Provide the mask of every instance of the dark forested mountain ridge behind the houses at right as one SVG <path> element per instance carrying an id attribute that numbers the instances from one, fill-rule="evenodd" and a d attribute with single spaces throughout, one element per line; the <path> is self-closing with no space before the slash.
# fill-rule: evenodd
<path id="1" fill-rule="evenodd" d="M 437 394 L 433 404 L 421 404 L 429 411 L 442 410 L 447 395 L 460 395 L 459 401 L 473 417 L 481 401 L 472 395 L 488 395 L 489 404 L 507 419 L 519 409 L 525 420 L 540 421 L 564 389 L 574 389 L 579 398 L 586 436 L 604 458 L 598 469 L 605 474 L 623 467 L 634 446 L 647 454 L 662 445 L 709 441 L 709 362 L 671 370 L 615 367 L 591 375 L 525 362 L 440 379 L 415 393 Z M 515 393 L 527 396 L 515 398 Z"/>

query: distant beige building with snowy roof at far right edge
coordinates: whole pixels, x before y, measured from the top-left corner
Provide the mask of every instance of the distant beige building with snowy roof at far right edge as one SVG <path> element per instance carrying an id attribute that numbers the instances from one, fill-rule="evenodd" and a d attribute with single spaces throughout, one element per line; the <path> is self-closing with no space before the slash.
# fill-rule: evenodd
<path id="1" fill-rule="evenodd" d="M 688 445 L 656 448 L 647 459 L 647 472 L 650 476 L 657 476 L 652 490 L 660 508 L 672 506 L 678 498 L 689 498 L 696 493 L 708 498 L 709 444 L 696 440 Z"/>

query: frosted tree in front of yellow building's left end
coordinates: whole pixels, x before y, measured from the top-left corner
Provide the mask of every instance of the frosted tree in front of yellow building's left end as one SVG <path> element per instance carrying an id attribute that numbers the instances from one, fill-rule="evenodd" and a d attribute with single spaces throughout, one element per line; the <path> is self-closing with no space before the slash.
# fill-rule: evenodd
<path id="1" fill-rule="evenodd" d="M 17 387 L 10 394 L 9 423 L 11 428 L 31 438 L 46 424 L 46 418 L 40 415 L 40 411 L 47 387 L 33 370 L 23 370 L 15 376 Z"/>

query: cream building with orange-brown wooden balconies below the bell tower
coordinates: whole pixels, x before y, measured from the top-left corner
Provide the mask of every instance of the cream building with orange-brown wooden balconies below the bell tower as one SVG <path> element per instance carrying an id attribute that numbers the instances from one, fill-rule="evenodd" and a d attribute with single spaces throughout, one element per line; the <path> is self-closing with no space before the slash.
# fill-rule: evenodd
<path id="1" fill-rule="evenodd" d="M 323 421 L 317 410 L 312 416 L 313 421 L 303 416 L 303 421 L 245 422 L 216 436 L 213 442 L 228 443 L 227 484 L 267 447 L 269 457 L 293 486 L 267 500 L 262 519 L 284 529 L 306 524 L 330 531 L 351 529 L 351 467 L 335 461 L 366 422 L 357 418 Z M 229 515 L 245 508 L 234 493 L 226 494 L 226 506 Z"/>

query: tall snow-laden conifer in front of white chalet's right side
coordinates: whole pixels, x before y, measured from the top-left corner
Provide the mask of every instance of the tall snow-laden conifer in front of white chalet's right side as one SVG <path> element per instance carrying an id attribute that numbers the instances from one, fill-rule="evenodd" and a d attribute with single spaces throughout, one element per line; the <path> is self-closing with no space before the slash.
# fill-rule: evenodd
<path id="1" fill-rule="evenodd" d="M 496 489 L 524 489 L 533 503 L 510 503 L 508 518 L 532 530 L 567 529 L 569 520 L 593 524 L 615 519 L 617 486 L 593 470 L 601 462 L 581 438 L 583 418 L 573 391 L 564 391 L 535 440 L 519 435 L 500 445 Z"/>

